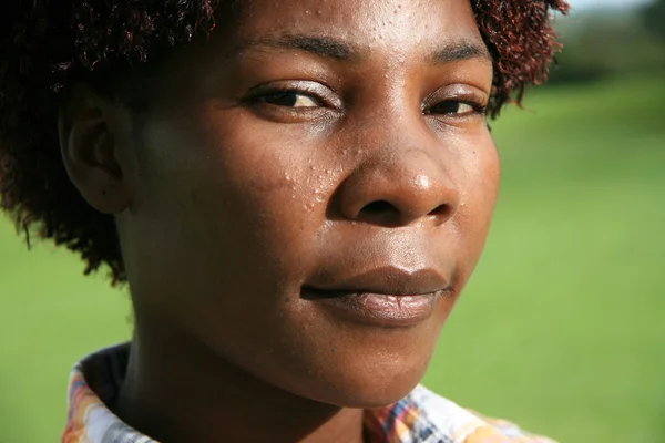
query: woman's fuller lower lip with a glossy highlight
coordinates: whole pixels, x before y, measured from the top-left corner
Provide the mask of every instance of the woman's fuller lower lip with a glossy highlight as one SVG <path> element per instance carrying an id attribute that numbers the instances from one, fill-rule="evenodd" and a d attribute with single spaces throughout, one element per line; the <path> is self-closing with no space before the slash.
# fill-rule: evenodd
<path id="1" fill-rule="evenodd" d="M 395 296 L 371 292 L 332 292 L 305 290 L 308 299 L 345 320 L 383 328 L 405 328 L 422 323 L 448 291 L 418 296 Z"/>

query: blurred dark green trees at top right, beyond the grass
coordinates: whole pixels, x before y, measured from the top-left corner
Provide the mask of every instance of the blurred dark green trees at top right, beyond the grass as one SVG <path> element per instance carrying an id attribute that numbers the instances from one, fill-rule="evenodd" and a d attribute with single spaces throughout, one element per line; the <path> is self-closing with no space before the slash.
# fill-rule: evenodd
<path id="1" fill-rule="evenodd" d="M 551 83 L 661 72 L 665 82 L 665 0 L 628 11 L 573 11 L 557 28 L 564 50 Z"/>

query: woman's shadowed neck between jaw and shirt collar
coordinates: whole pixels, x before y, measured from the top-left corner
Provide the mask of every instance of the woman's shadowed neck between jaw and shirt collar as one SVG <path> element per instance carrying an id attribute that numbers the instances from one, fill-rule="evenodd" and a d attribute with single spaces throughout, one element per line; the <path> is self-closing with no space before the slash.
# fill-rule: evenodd
<path id="1" fill-rule="evenodd" d="M 149 329 L 149 328 L 145 328 Z M 114 413 L 163 443 L 362 441 L 362 410 L 279 390 L 182 336 L 136 327 Z"/>

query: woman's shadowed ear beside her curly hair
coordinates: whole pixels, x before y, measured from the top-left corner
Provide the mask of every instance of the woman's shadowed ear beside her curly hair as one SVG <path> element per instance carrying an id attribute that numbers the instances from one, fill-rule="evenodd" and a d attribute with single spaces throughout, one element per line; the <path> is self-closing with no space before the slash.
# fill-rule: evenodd
<path id="1" fill-rule="evenodd" d="M 130 206 L 117 142 L 129 111 L 86 85 L 75 85 L 60 107 L 60 148 L 68 175 L 90 206 L 119 214 Z"/>

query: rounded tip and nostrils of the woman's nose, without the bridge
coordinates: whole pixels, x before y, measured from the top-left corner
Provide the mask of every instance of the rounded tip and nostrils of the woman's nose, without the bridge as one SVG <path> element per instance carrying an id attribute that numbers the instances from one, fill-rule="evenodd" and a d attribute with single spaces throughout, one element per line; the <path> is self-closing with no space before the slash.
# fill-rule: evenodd
<path id="1" fill-rule="evenodd" d="M 342 217 L 398 227 L 441 225 L 454 215 L 460 193 L 443 159 L 427 150 L 399 151 L 377 151 L 341 183 L 338 202 Z"/>

